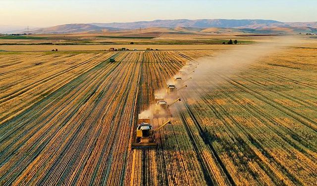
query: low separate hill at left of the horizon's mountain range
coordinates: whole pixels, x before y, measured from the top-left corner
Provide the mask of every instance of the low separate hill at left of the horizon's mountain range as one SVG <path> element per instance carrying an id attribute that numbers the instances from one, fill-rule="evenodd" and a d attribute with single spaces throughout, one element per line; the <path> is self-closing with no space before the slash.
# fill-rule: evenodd
<path id="1" fill-rule="evenodd" d="M 115 28 L 100 27 L 92 24 L 63 24 L 48 28 L 41 28 L 32 33 L 58 34 L 58 33 L 77 33 L 77 32 L 106 32 L 117 30 Z"/>

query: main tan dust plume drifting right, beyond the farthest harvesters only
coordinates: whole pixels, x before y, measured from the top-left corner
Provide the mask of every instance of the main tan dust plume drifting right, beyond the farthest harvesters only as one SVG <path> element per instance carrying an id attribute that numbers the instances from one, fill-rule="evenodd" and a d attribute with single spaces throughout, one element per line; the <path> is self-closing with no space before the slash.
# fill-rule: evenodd
<path id="1" fill-rule="evenodd" d="M 298 43 L 299 40 L 296 37 L 281 37 L 270 42 L 236 46 L 231 50 L 217 51 L 213 57 L 189 62 L 196 64 L 196 68 L 190 68 L 195 72 L 190 75 L 192 79 L 186 82 L 188 87 L 180 90 L 179 93 L 180 95 L 186 95 L 187 99 L 197 101 L 200 95 L 212 91 L 214 86 L 225 81 L 221 76 L 231 78 L 240 72 L 247 73 L 244 69 L 248 65 L 260 60 L 265 61 L 271 54 L 278 54 Z M 188 68 L 188 65 L 185 65 L 180 71 L 186 71 L 186 68 Z"/>

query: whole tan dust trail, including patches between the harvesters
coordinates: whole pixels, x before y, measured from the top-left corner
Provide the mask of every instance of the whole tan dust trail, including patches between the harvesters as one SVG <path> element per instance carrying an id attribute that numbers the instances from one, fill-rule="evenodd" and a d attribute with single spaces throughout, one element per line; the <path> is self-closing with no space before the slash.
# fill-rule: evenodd
<path id="1" fill-rule="evenodd" d="M 191 99 L 198 101 L 201 95 L 213 90 L 214 86 L 225 81 L 221 76 L 232 77 L 238 72 L 243 72 L 247 65 L 265 60 L 269 55 L 279 53 L 287 47 L 297 44 L 299 40 L 296 38 L 282 37 L 280 39 L 271 40 L 270 42 L 235 46 L 230 50 L 216 51 L 212 57 L 201 58 L 195 61 L 187 62 L 178 74 L 166 81 L 166 84 L 174 84 L 177 89 L 184 85 L 186 88 L 181 88 L 177 92 L 182 100 Z M 181 77 L 182 81 L 175 81 L 176 77 Z M 155 95 L 165 97 L 168 104 L 171 104 L 174 99 L 166 99 L 166 87 L 157 91 Z M 178 98 L 176 95 L 175 99 Z M 176 103 L 177 104 L 177 103 Z M 175 105 L 176 105 L 175 104 Z M 153 116 L 155 104 L 151 105 L 148 110 L 142 114 Z M 175 106 L 171 109 L 173 114 L 179 112 Z"/>

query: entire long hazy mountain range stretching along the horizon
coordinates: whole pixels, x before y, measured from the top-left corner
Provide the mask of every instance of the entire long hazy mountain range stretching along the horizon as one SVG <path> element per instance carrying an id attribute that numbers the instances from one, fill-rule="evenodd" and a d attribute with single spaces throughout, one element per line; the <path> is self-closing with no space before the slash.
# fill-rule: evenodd
<path id="1" fill-rule="evenodd" d="M 219 28 L 221 32 L 243 32 L 254 34 L 284 34 L 298 32 L 317 32 L 317 22 L 292 22 L 284 23 L 264 19 L 176 19 L 176 20 L 154 20 L 137 21 L 129 23 L 90 23 L 90 24 L 64 24 L 48 28 L 30 31 L 31 33 L 57 34 L 57 33 L 97 33 L 122 30 L 136 30 L 142 28 L 166 28 L 168 32 L 192 33 L 209 32 L 208 28 Z M 232 29 L 232 31 L 228 29 Z M 207 29 L 207 30 L 206 30 Z M 163 29 L 164 30 L 164 29 Z M 212 29 L 209 29 L 212 30 Z M 166 32 L 165 30 L 164 32 Z M 161 32 L 161 31 L 155 31 Z"/>

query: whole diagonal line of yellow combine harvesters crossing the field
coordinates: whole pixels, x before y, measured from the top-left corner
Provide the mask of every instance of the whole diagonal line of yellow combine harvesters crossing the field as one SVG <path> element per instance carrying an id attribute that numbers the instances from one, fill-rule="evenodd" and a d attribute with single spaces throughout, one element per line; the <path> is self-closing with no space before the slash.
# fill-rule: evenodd
<path id="1" fill-rule="evenodd" d="M 166 94 L 155 95 L 155 110 L 151 116 L 139 114 L 138 125 L 136 129 L 136 140 L 131 144 L 132 149 L 135 148 L 157 148 L 158 143 L 155 140 L 155 133 L 167 124 L 172 124 L 170 120 L 154 128 L 151 123 L 155 118 L 172 118 L 173 115 L 170 107 L 175 103 L 181 101 L 177 91 L 186 88 L 186 81 L 192 79 L 190 76 L 199 63 L 187 63 L 178 75 L 174 77 L 173 83 L 166 85 Z M 170 103 L 170 104 L 169 104 Z"/>

